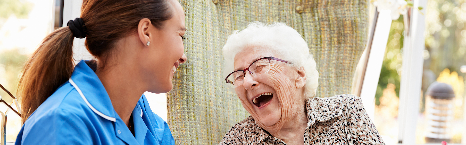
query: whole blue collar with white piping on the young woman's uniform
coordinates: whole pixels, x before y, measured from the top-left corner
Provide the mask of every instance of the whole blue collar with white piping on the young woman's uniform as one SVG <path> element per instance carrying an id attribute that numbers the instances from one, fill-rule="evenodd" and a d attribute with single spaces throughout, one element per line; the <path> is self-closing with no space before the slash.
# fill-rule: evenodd
<path id="1" fill-rule="evenodd" d="M 95 61 L 82 60 L 75 66 L 69 82 L 94 113 L 115 123 L 114 129 L 118 138 L 129 145 L 143 145 L 148 127 L 142 119 L 144 115 L 142 107 L 137 103 L 132 112 L 135 138 L 115 112 L 110 97 L 94 72 L 95 70 Z M 139 101 L 142 101 L 142 99 L 143 97 Z"/>

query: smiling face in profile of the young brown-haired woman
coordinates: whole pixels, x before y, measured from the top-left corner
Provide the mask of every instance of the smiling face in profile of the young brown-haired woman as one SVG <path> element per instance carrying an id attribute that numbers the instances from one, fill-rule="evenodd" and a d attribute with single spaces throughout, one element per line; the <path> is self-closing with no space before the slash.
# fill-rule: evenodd
<path id="1" fill-rule="evenodd" d="M 173 84 L 171 79 L 180 63 L 185 63 L 184 45 L 182 36 L 185 35 L 185 13 L 177 0 L 170 0 L 171 19 L 164 21 L 162 29 L 154 29 L 156 32 L 151 38 L 151 57 L 147 62 L 147 68 L 151 71 L 152 93 L 166 93 L 171 90 Z M 152 26 L 153 27 L 153 26 Z"/>

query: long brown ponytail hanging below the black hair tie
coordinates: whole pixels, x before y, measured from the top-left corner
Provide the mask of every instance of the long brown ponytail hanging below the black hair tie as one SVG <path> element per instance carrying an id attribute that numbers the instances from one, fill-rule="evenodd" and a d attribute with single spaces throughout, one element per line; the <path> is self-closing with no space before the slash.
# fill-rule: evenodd
<path id="1" fill-rule="evenodd" d="M 27 59 L 18 85 L 22 123 L 71 77 L 74 38 L 68 26 L 55 30 Z"/>

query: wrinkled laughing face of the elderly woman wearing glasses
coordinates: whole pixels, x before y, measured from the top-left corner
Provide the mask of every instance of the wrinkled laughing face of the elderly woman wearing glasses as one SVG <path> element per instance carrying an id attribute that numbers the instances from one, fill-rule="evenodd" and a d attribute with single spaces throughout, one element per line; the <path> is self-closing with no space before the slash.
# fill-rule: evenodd
<path id="1" fill-rule="evenodd" d="M 277 57 L 267 50 L 267 46 L 251 46 L 236 54 L 234 69 L 246 69 L 255 60 L 262 57 Z M 280 58 L 283 59 L 283 58 Z M 288 61 L 288 60 L 286 60 Z M 244 76 L 243 84 L 235 88 L 236 94 L 243 107 L 251 113 L 259 125 L 273 126 L 283 120 L 284 113 L 292 106 L 293 101 L 300 101 L 296 97 L 295 71 L 287 63 L 270 60 L 270 70 L 260 76 L 251 76 L 249 72 Z M 302 100 L 301 100 L 302 101 Z"/>

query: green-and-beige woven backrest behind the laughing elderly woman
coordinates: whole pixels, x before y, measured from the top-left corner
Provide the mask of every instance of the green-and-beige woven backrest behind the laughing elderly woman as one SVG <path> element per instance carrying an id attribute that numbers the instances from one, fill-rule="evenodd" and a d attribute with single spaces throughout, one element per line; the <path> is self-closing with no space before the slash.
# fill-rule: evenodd
<path id="1" fill-rule="evenodd" d="M 168 93 L 177 145 L 217 145 L 249 113 L 224 82 L 222 47 L 252 21 L 283 22 L 308 42 L 319 71 L 317 97 L 351 93 L 367 41 L 367 0 L 182 0 L 185 54 Z"/>

